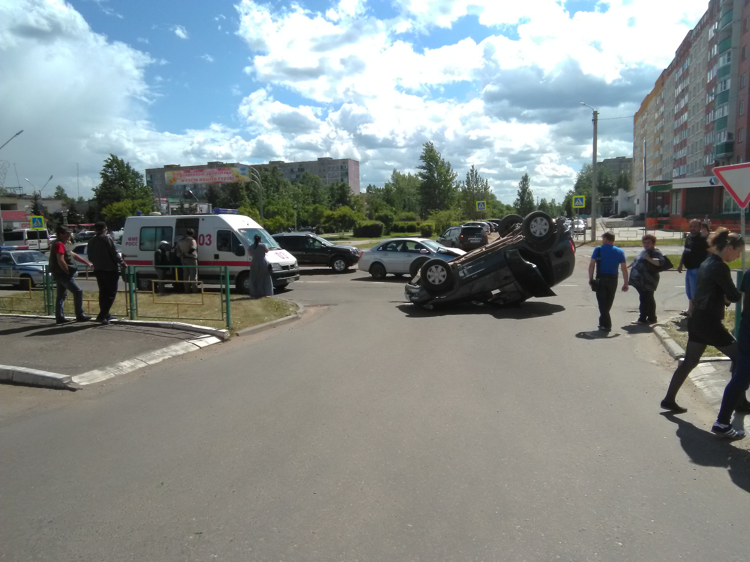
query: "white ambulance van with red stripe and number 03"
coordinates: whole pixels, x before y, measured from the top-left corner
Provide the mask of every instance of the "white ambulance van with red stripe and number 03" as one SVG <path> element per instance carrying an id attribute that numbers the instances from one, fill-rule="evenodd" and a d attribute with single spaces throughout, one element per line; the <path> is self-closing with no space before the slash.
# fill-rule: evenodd
<path id="1" fill-rule="evenodd" d="M 266 257 L 271 265 L 274 287 L 284 288 L 299 280 L 297 260 L 287 250 L 282 250 L 274 238 L 250 217 L 232 214 L 231 209 L 214 209 L 214 214 L 161 215 L 158 217 L 127 217 L 122 233 L 122 259 L 127 265 L 148 265 L 136 268 L 138 288 L 151 290 L 151 280 L 156 279 L 153 268 L 154 251 L 160 241 L 166 240 L 174 249 L 175 244 L 193 229 L 198 243 L 198 265 L 229 266 L 229 279 L 235 282 L 238 291 L 250 290 L 250 254 L 248 248 L 260 235 L 263 244 L 269 247 Z M 236 211 L 234 211 L 236 213 Z M 216 270 L 198 269 L 198 279 L 216 282 L 220 274 Z"/>

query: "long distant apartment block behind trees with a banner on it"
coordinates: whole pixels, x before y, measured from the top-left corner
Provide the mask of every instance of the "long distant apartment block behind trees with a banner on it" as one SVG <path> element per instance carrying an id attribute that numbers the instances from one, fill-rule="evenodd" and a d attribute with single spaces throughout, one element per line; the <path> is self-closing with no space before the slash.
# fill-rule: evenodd
<path id="1" fill-rule="evenodd" d="M 192 191 L 198 198 L 205 196 L 209 185 L 220 185 L 226 181 L 243 181 L 248 176 L 248 168 L 261 169 L 276 167 L 284 178 L 298 181 L 305 172 L 319 176 L 326 185 L 337 181 L 349 184 L 353 193 L 359 194 L 359 162 L 350 158 L 318 158 L 308 162 L 284 162 L 272 160 L 268 164 L 241 164 L 208 162 L 199 166 L 180 166 L 166 164 L 161 168 L 149 168 L 145 171 L 145 183 L 160 199 L 190 199 L 187 191 Z"/>

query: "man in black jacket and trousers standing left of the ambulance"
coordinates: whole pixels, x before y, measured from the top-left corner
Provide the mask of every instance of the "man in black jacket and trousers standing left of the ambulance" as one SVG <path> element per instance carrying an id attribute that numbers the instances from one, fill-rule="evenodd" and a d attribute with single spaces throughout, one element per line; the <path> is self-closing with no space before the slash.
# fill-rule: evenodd
<path id="1" fill-rule="evenodd" d="M 96 321 L 109 324 L 116 318 L 110 314 L 117 298 L 117 285 L 120 281 L 120 269 L 125 262 L 115 250 L 115 243 L 107 236 L 107 224 L 100 220 L 94 225 L 96 235 L 89 240 L 86 256 L 94 265 L 94 277 L 99 285 L 99 314 Z"/>

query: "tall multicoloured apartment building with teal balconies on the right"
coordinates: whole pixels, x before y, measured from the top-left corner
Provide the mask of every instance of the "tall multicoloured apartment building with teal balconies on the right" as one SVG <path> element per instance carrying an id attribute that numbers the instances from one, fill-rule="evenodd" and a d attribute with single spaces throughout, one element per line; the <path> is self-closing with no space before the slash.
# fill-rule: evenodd
<path id="1" fill-rule="evenodd" d="M 649 224 L 733 224 L 739 208 L 712 173 L 748 160 L 750 1 L 710 0 L 634 116 L 632 197 Z"/>

